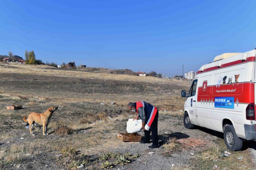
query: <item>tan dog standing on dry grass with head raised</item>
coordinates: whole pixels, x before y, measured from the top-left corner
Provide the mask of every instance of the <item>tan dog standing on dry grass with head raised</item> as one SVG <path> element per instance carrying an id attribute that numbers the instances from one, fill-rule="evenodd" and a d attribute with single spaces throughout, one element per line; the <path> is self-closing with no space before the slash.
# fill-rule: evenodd
<path id="1" fill-rule="evenodd" d="M 26 116 L 23 117 L 23 121 L 26 123 L 29 123 L 29 131 L 31 134 L 33 134 L 31 128 L 36 123 L 43 125 L 43 135 L 46 135 L 47 126 L 50 122 L 50 118 L 52 117 L 52 114 L 55 110 L 57 110 L 58 107 L 50 107 L 46 112 L 44 113 L 30 113 L 28 115 L 28 119 L 26 119 Z"/>

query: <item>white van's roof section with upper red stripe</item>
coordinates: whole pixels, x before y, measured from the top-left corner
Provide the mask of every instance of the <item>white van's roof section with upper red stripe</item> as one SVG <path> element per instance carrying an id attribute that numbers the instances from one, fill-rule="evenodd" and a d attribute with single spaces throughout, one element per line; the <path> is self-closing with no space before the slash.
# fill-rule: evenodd
<path id="1" fill-rule="evenodd" d="M 225 53 L 225 55 L 219 55 L 219 60 L 215 60 L 212 63 L 205 64 L 201 66 L 196 75 L 200 73 L 205 73 L 212 70 L 217 70 L 237 64 L 241 64 L 244 62 L 252 62 L 256 60 L 256 49 L 251 51 L 247 51 L 245 53 L 236 53 L 236 55 L 232 55 L 234 53 Z M 218 56 L 217 56 L 218 57 Z M 222 59 L 220 59 L 222 57 Z M 216 57 L 215 57 L 216 58 Z M 196 78 L 197 76 L 195 76 Z"/>

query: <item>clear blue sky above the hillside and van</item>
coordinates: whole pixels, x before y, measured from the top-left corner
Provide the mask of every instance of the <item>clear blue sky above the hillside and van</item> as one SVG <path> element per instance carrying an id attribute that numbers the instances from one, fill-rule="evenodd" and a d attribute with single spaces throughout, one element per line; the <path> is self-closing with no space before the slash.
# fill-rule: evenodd
<path id="1" fill-rule="evenodd" d="M 46 62 L 197 71 L 222 53 L 256 47 L 256 1 L 2 0 L 0 54 Z"/>

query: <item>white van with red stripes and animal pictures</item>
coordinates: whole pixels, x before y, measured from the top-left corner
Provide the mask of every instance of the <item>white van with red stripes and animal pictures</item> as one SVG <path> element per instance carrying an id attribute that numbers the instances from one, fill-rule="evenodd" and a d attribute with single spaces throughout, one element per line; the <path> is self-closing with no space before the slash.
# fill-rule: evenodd
<path id="1" fill-rule="evenodd" d="M 184 126 L 194 125 L 223 132 L 227 148 L 242 148 L 243 140 L 256 139 L 255 107 L 256 49 L 225 53 L 203 65 L 184 104 Z"/>

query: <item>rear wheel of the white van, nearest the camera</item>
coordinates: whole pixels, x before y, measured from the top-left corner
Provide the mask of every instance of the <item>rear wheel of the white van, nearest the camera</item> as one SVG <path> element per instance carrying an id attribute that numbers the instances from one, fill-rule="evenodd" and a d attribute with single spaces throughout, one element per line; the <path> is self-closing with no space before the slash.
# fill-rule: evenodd
<path id="1" fill-rule="evenodd" d="M 242 139 L 238 138 L 233 125 L 225 127 L 224 140 L 226 147 L 231 151 L 238 151 L 243 146 Z"/>

